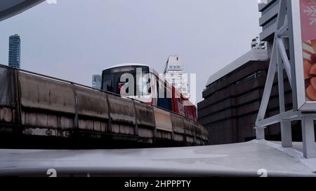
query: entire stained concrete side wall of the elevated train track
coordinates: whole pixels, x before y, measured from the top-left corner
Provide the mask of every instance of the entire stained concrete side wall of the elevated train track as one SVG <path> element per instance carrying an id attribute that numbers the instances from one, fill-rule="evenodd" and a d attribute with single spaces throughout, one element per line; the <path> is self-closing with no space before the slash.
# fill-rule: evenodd
<path id="1" fill-rule="evenodd" d="M 0 85 L 0 128 L 19 125 L 22 134 L 69 137 L 78 132 L 185 145 L 208 141 L 204 127 L 181 115 L 83 85 L 1 65 Z"/>

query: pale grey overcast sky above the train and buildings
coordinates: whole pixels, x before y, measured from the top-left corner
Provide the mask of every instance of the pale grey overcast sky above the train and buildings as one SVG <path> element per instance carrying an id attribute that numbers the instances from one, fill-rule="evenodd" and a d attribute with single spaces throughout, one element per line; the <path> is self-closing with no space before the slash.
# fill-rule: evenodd
<path id="1" fill-rule="evenodd" d="M 197 101 L 212 73 L 250 50 L 256 0 L 57 0 L 0 22 L 0 63 L 8 36 L 22 40 L 22 69 L 84 85 L 114 64 L 150 64 L 162 72 L 179 55 L 197 73 Z"/>

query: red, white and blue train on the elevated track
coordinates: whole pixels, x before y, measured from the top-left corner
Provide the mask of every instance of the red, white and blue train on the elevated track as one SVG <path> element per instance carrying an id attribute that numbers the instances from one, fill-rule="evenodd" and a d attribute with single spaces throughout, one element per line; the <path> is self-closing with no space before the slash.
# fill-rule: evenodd
<path id="1" fill-rule="evenodd" d="M 132 82 L 131 82 L 132 80 Z M 102 73 L 102 90 L 172 111 L 197 122 L 197 107 L 146 64 L 119 64 Z"/>

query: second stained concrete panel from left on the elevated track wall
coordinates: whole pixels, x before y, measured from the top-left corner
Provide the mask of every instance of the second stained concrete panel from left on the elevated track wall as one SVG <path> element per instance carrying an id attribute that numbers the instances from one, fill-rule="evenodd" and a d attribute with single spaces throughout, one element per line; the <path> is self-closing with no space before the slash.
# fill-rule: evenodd
<path id="1" fill-rule="evenodd" d="M 69 83 L 21 71 L 18 71 L 18 83 L 22 125 L 44 129 L 74 128 L 74 91 Z"/>

